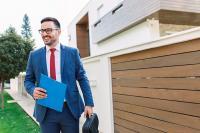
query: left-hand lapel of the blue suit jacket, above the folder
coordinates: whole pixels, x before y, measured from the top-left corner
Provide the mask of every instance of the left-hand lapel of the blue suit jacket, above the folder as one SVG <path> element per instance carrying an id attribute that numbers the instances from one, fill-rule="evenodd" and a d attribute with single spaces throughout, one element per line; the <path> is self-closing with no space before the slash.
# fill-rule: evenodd
<path id="1" fill-rule="evenodd" d="M 40 64 L 38 64 L 38 65 L 40 65 Z M 46 48 L 45 47 L 42 49 L 42 52 L 41 52 L 41 66 L 42 66 L 43 74 L 48 76 L 47 62 L 46 62 Z"/>

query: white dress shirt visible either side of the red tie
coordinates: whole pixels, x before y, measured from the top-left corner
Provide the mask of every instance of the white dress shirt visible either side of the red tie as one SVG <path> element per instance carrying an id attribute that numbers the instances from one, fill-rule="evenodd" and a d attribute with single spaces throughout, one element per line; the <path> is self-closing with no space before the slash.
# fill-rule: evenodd
<path id="1" fill-rule="evenodd" d="M 56 67 L 56 81 L 61 82 L 61 67 L 60 67 L 60 55 L 61 55 L 61 49 L 60 49 L 60 43 L 54 47 L 56 50 L 54 52 L 55 54 L 55 67 Z M 50 47 L 46 45 L 46 62 L 47 62 L 47 70 L 48 70 L 48 76 L 50 77 L 50 56 L 51 51 Z"/>

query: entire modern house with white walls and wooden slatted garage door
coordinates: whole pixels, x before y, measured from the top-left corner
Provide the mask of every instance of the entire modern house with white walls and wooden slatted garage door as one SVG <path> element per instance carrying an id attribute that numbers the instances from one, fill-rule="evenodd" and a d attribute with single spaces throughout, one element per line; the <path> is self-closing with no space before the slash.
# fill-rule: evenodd
<path id="1" fill-rule="evenodd" d="M 68 36 L 100 132 L 200 132 L 199 26 L 200 0 L 88 2 Z"/>

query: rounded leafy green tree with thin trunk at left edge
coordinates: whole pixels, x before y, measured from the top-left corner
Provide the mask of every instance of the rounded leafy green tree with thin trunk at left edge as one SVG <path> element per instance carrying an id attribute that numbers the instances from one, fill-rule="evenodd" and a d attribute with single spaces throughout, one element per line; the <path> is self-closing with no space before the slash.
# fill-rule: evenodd
<path id="1" fill-rule="evenodd" d="M 13 27 L 9 27 L 5 33 L 0 35 L 0 89 L 2 94 L 2 108 L 4 108 L 4 81 L 16 77 L 19 72 L 25 70 L 28 53 L 32 50 L 27 43 L 27 40 L 18 35 Z"/>

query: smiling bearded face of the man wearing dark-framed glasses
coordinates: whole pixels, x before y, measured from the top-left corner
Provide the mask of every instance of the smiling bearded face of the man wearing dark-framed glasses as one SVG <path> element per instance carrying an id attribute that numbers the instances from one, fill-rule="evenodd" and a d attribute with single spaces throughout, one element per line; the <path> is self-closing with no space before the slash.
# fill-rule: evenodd
<path id="1" fill-rule="evenodd" d="M 59 42 L 60 29 L 52 21 L 43 22 L 40 30 L 45 45 L 52 46 Z"/>

